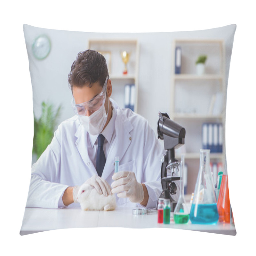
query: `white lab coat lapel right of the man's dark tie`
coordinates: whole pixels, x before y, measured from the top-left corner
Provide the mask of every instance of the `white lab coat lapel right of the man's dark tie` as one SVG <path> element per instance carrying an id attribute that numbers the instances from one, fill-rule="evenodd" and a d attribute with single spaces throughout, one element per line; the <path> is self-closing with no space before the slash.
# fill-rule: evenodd
<path id="1" fill-rule="evenodd" d="M 117 108 L 115 129 L 116 137 L 109 150 L 108 158 L 106 159 L 106 164 L 101 176 L 104 180 L 106 180 L 115 169 L 115 157 L 119 156 L 119 161 L 121 161 L 132 141 L 130 132 L 133 126 L 128 118 L 122 114 L 120 108 Z"/>

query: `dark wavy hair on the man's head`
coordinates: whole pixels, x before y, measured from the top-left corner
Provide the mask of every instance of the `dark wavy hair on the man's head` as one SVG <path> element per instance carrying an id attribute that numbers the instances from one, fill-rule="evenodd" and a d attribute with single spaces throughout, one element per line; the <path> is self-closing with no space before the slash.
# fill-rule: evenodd
<path id="1" fill-rule="evenodd" d="M 68 83 L 73 91 L 73 86 L 92 87 L 98 81 L 103 86 L 107 77 L 108 67 L 104 56 L 99 52 L 86 50 L 77 54 L 68 74 Z"/>

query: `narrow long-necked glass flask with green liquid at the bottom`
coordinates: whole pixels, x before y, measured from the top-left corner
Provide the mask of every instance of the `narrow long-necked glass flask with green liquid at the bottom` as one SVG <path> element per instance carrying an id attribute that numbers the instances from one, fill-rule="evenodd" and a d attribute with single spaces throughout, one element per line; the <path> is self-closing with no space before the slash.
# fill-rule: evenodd
<path id="1" fill-rule="evenodd" d="M 174 222 L 177 224 L 185 224 L 188 223 L 189 220 L 189 211 L 186 206 L 186 201 L 184 197 L 184 183 L 183 183 L 183 177 L 184 177 L 184 154 L 181 155 L 181 168 L 180 168 L 180 197 L 179 200 L 175 206 L 174 209 Z"/>

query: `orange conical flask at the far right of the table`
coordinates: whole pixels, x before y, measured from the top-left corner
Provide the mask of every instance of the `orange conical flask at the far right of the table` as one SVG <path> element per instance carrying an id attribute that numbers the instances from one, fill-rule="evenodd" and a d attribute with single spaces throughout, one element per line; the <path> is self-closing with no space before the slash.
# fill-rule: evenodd
<path id="1" fill-rule="evenodd" d="M 217 208 L 219 213 L 219 222 L 230 223 L 228 175 L 223 174 L 222 176 Z"/>

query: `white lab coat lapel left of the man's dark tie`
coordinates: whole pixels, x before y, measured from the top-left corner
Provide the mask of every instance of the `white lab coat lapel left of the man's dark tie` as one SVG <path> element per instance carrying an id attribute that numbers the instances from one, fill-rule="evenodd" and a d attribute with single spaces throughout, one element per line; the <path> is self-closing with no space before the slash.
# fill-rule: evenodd
<path id="1" fill-rule="evenodd" d="M 88 170 L 90 174 L 94 175 L 94 174 L 97 174 L 97 171 L 88 155 L 87 145 L 88 143 L 90 143 L 90 141 L 87 141 L 86 135 L 87 133 L 84 130 L 83 125 L 80 125 L 75 133 L 75 136 L 77 137 L 75 145 L 76 145 L 77 151 L 79 152 L 81 158 L 84 161 L 84 164 L 89 167 Z"/>

